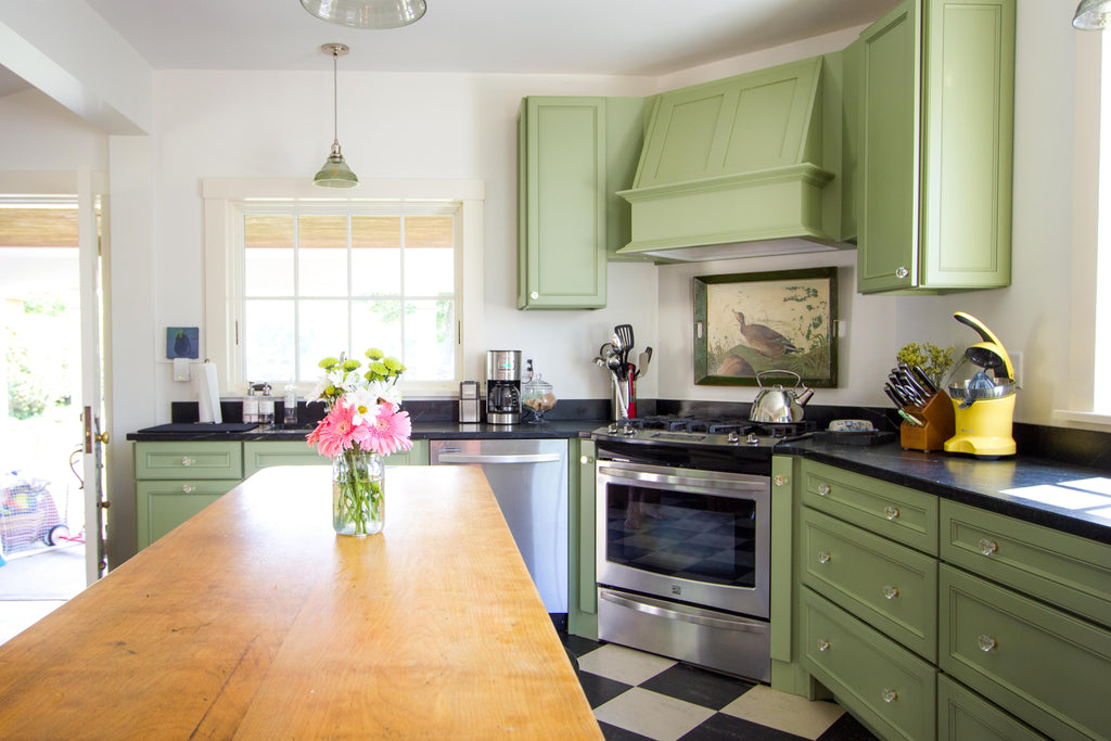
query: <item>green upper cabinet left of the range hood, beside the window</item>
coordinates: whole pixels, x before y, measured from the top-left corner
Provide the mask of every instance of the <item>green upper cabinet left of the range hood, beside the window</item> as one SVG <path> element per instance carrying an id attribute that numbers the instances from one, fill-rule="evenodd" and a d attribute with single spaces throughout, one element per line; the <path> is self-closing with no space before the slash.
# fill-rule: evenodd
<path id="1" fill-rule="evenodd" d="M 640 98 L 530 96 L 518 121 L 519 309 L 600 309 L 605 263 L 629 239 L 643 141 Z M 611 247 L 612 246 L 612 247 Z"/>

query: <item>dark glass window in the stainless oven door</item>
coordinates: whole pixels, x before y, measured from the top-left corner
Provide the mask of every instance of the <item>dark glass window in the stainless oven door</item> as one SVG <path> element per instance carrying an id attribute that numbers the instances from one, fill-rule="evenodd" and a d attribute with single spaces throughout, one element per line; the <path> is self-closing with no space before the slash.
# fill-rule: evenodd
<path id="1" fill-rule="evenodd" d="M 751 499 L 605 485 L 605 558 L 611 563 L 692 581 L 755 587 Z"/>

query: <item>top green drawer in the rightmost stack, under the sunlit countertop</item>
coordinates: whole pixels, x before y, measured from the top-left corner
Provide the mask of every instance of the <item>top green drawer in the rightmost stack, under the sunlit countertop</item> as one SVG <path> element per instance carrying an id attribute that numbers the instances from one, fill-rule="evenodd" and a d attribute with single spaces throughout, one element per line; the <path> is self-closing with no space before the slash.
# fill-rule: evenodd
<path id="1" fill-rule="evenodd" d="M 943 501 L 941 554 L 973 573 L 1111 625 L 1111 545 Z"/>

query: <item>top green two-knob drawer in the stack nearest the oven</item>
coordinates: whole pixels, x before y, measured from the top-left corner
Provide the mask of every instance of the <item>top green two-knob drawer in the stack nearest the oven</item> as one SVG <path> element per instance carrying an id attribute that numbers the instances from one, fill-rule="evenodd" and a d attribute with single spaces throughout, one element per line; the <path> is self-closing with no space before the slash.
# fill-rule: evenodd
<path id="1" fill-rule="evenodd" d="M 804 460 L 802 503 L 938 554 L 938 498 L 933 494 Z"/>

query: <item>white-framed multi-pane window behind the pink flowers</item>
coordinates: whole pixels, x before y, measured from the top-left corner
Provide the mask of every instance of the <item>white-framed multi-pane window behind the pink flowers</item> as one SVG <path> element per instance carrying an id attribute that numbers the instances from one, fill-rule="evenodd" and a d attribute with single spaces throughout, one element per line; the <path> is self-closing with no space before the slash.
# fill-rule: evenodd
<path id="1" fill-rule="evenodd" d="M 420 199 L 420 188 L 402 182 L 402 197 L 357 200 L 319 190 L 313 198 L 222 198 L 237 188 L 206 181 L 207 352 L 222 388 L 296 380 L 307 390 L 322 358 L 362 359 L 372 347 L 406 364 L 407 394 L 458 388 L 462 256 L 478 251 L 477 201 L 442 198 L 442 188 Z M 473 184 L 464 191 L 473 196 Z M 468 212 L 479 230 L 466 223 Z"/>

